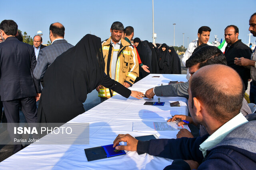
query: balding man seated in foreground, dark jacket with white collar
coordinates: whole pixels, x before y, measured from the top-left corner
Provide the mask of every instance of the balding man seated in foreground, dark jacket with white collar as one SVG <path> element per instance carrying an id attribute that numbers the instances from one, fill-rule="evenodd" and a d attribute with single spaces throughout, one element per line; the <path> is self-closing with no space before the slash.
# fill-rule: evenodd
<path id="1" fill-rule="evenodd" d="M 138 141 L 118 135 L 114 146 L 174 159 L 166 169 L 251 169 L 256 167 L 256 115 L 240 113 L 244 86 L 238 73 L 220 64 L 200 68 L 191 76 L 188 109 L 208 135 L 196 138 Z M 210 96 L 210 97 L 209 97 Z M 117 146 L 119 142 L 127 146 Z"/>

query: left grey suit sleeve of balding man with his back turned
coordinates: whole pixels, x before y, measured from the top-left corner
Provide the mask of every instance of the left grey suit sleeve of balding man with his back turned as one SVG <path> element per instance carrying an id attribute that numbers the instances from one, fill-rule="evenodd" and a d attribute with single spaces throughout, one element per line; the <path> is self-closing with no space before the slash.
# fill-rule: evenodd
<path id="1" fill-rule="evenodd" d="M 48 68 L 48 60 L 44 50 L 40 50 L 38 54 L 38 60 L 36 63 L 36 68 L 34 69 L 34 76 L 36 79 L 40 80 L 44 76 L 46 69 Z"/>

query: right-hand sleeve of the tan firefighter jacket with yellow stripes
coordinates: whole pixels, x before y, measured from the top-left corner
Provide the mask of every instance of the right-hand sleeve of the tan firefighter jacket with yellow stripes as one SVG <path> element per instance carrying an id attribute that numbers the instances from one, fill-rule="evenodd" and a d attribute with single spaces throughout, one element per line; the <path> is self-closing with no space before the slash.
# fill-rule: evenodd
<path id="1" fill-rule="evenodd" d="M 132 84 L 134 83 L 135 79 L 138 76 L 139 76 L 139 62 L 138 62 L 136 49 L 133 48 L 131 51 L 131 57 L 130 57 L 130 70 L 129 70 L 129 72 L 126 76 L 126 80 L 124 80 L 124 82 L 127 82 L 128 84 L 130 84 L 132 86 Z"/>

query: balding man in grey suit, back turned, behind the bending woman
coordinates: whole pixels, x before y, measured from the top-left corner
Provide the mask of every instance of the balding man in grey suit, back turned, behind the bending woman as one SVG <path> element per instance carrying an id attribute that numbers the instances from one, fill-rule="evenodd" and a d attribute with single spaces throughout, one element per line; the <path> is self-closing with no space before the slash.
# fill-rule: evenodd
<path id="1" fill-rule="evenodd" d="M 36 68 L 33 72 L 36 79 L 43 78 L 50 64 L 63 52 L 74 47 L 64 39 L 64 34 L 65 28 L 61 23 L 56 22 L 50 25 L 50 40 L 52 44 L 40 50 Z"/>

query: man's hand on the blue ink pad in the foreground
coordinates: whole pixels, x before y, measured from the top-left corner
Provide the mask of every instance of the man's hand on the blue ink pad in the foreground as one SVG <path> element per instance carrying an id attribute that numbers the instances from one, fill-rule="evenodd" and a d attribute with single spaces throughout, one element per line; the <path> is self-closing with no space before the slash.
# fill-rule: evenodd
<path id="1" fill-rule="evenodd" d="M 127 142 L 126 146 L 116 146 L 119 144 L 119 142 Z M 113 142 L 113 148 L 116 147 L 118 150 L 129 150 L 129 151 L 136 151 L 137 150 L 137 145 L 138 145 L 138 140 L 132 137 L 129 134 L 123 135 L 119 134 L 116 139 Z"/>

